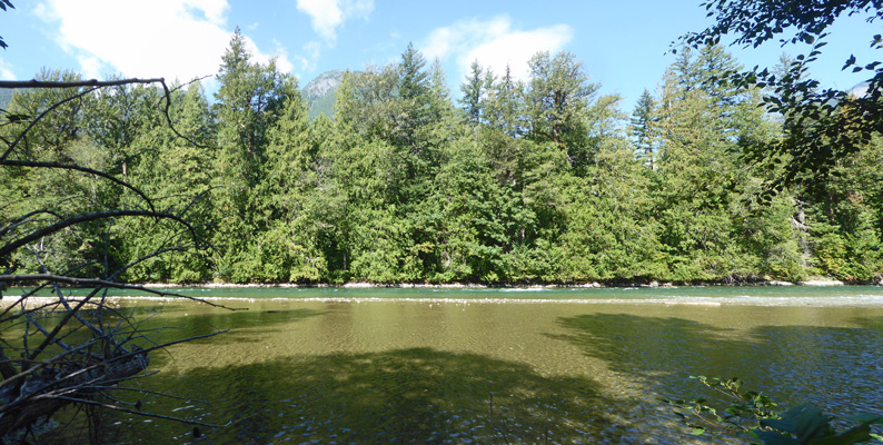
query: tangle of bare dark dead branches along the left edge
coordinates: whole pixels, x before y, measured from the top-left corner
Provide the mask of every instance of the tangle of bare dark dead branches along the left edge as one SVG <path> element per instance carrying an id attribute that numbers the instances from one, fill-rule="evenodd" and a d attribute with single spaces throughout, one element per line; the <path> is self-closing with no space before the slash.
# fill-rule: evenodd
<path id="1" fill-rule="evenodd" d="M 148 354 L 150 352 L 161 350 L 179 343 L 211 337 L 226 330 L 216 330 L 207 335 L 160 343 L 156 338 L 157 334 L 145 334 L 151 329 L 140 329 L 139 324 L 132 322 L 133 313 L 119 314 L 106 304 L 108 289 L 130 289 L 162 297 L 198 301 L 211 307 L 242 310 L 215 304 L 204 298 L 115 281 L 120 274 L 136 264 L 169 251 L 186 251 L 188 247 L 172 246 L 172 244 L 175 244 L 172 240 L 179 239 L 188 231 L 194 239 L 194 245 L 198 246 L 201 241 L 197 235 L 196 227 L 199 226 L 191 225 L 185 219 L 185 215 L 194 202 L 199 200 L 204 194 L 209 192 L 210 189 L 199 194 L 182 212 L 175 215 L 172 212 L 157 211 L 153 205 L 156 199 L 151 199 L 138 187 L 118 178 L 118 171 L 115 169 L 105 169 L 101 171 L 77 164 L 62 164 L 34 159 L 10 159 L 11 157 L 19 156 L 21 158 L 27 158 L 27 151 L 17 150 L 17 147 L 23 144 L 24 147 L 28 148 L 29 141 L 27 135 L 38 122 L 47 118 L 50 113 L 59 110 L 59 107 L 62 105 L 83 98 L 100 88 L 135 83 L 159 83 L 163 91 L 159 100 L 165 100 L 165 103 L 160 105 L 161 102 L 157 102 L 156 106 L 162 107 L 161 112 L 165 116 L 168 128 L 170 128 L 177 137 L 196 147 L 205 148 L 205 146 L 181 135 L 175 128 L 170 116 L 172 105 L 171 95 L 172 91 L 176 91 L 180 87 L 170 89 L 163 78 L 133 78 L 110 81 L 91 79 L 71 82 L 39 80 L 0 81 L 0 88 L 73 89 L 70 91 L 69 97 L 51 103 L 36 117 L 8 116 L 8 123 L 19 125 L 20 127 L 16 128 L 22 128 L 22 130 L 14 138 L 10 137 L 8 139 L 2 139 L 7 148 L 0 154 L 0 166 L 62 169 L 92 175 L 96 180 L 108 180 L 117 186 L 131 190 L 147 202 L 147 206 L 136 204 L 133 206 L 136 209 L 110 209 L 80 212 L 72 216 L 56 211 L 51 206 L 44 206 L 42 209 L 29 211 L 27 215 L 10 218 L 4 221 L 4 227 L 0 227 L 0 236 L 11 238 L 11 240 L 3 241 L 3 244 L 0 245 L 0 260 L 8 261 L 14 253 L 27 247 L 37 256 L 37 263 L 42 270 L 41 274 L 17 275 L 13 274 L 16 265 L 10 261 L 8 269 L 0 275 L 0 298 L 2 297 L 1 290 L 4 290 L 8 285 L 22 283 L 34 284 L 33 288 L 24 291 L 22 296 L 18 297 L 16 304 L 6 308 L 2 314 L 0 314 L 0 323 L 3 324 L 3 329 L 10 327 L 14 327 L 16 329 L 23 328 L 23 335 L 19 338 L 12 338 L 11 343 L 0 338 L 0 345 L 3 345 L 0 347 L 0 375 L 2 375 L 2 380 L 0 380 L 0 437 L 18 429 L 36 425 L 41 418 L 51 416 L 54 412 L 67 405 L 100 407 L 195 425 L 220 426 L 162 414 L 143 413 L 138 409 L 138 405 L 135 405 L 137 411 L 128 409 L 120 406 L 126 404 L 113 398 L 110 392 L 121 389 L 153 394 L 152 392 L 125 388 L 119 385 L 123 382 L 148 375 L 145 370 L 149 365 Z M 37 113 L 37 111 L 33 111 L 33 113 Z M 59 199 L 65 198 L 60 197 Z M 58 200 L 56 200 L 56 205 L 57 204 Z M 145 210 L 142 209 L 143 207 L 148 209 Z M 108 260 L 108 236 L 110 229 L 108 228 L 108 230 L 105 231 L 105 278 L 78 278 L 69 276 L 76 268 L 62 274 L 53 273 L 40 258 L 40 254 L 44 251 L 44 249 L 42 247 L 32 248 L 30 246 L 43 237 L 59 234 L 71 226 L 91 221 L 113 220 L 120 217 L 150 217 L 155 218 L 157 221 L 168 219 L 179 224 L 180 226 L 178 227 L 180 230 L 176 230 L 177 234 L 170 235 L 168 239 L 162 241 L 160 248 L 157 248 L 155 251 L 141 256 L 116 271 L 111 271 L 108 270 L 108 264 L 110 264 Z M 62 284 L 91 287 L 91 291 L 82 297 L 72 297 L 62 291 L 60 287 Z M 31 298 L 37 291 L 48 286 L 51 286 L 54 291 L 51 303 L 40 305 L 37 308 L 24 306 L 24 301 L 28 298 Z M 97 298 L 99 293 L 101 293 L 100 298 Z M 19 305 L 21 308 L 16 313 L 13 308 Z M 96 309 L 95 313 L 92 313 L 95 318 L 86 315 L 87 313 L 83 312 L 83 309 L 88 307 L 93 307 Z M 48 318 L 49 322 L 40 317 L 40 312 L 56 309 L 61 312 L 60 317 Z M 105 319 L 105 314 L 111 314 L 111 312 L 119 315 L 119 320 Z M 69 340 L 73 338 L 70 336 L 75 333 L 77 333 L 78 336 L 82 335 L 89 338 Z M 20 356 L 21 358 L 10 358 L 7 352 L 11 353 L 12 357 Z M 47 356 L 51 357 L 46 358 Z M 108 400 L 110 403 L 106 403 Z"/>

